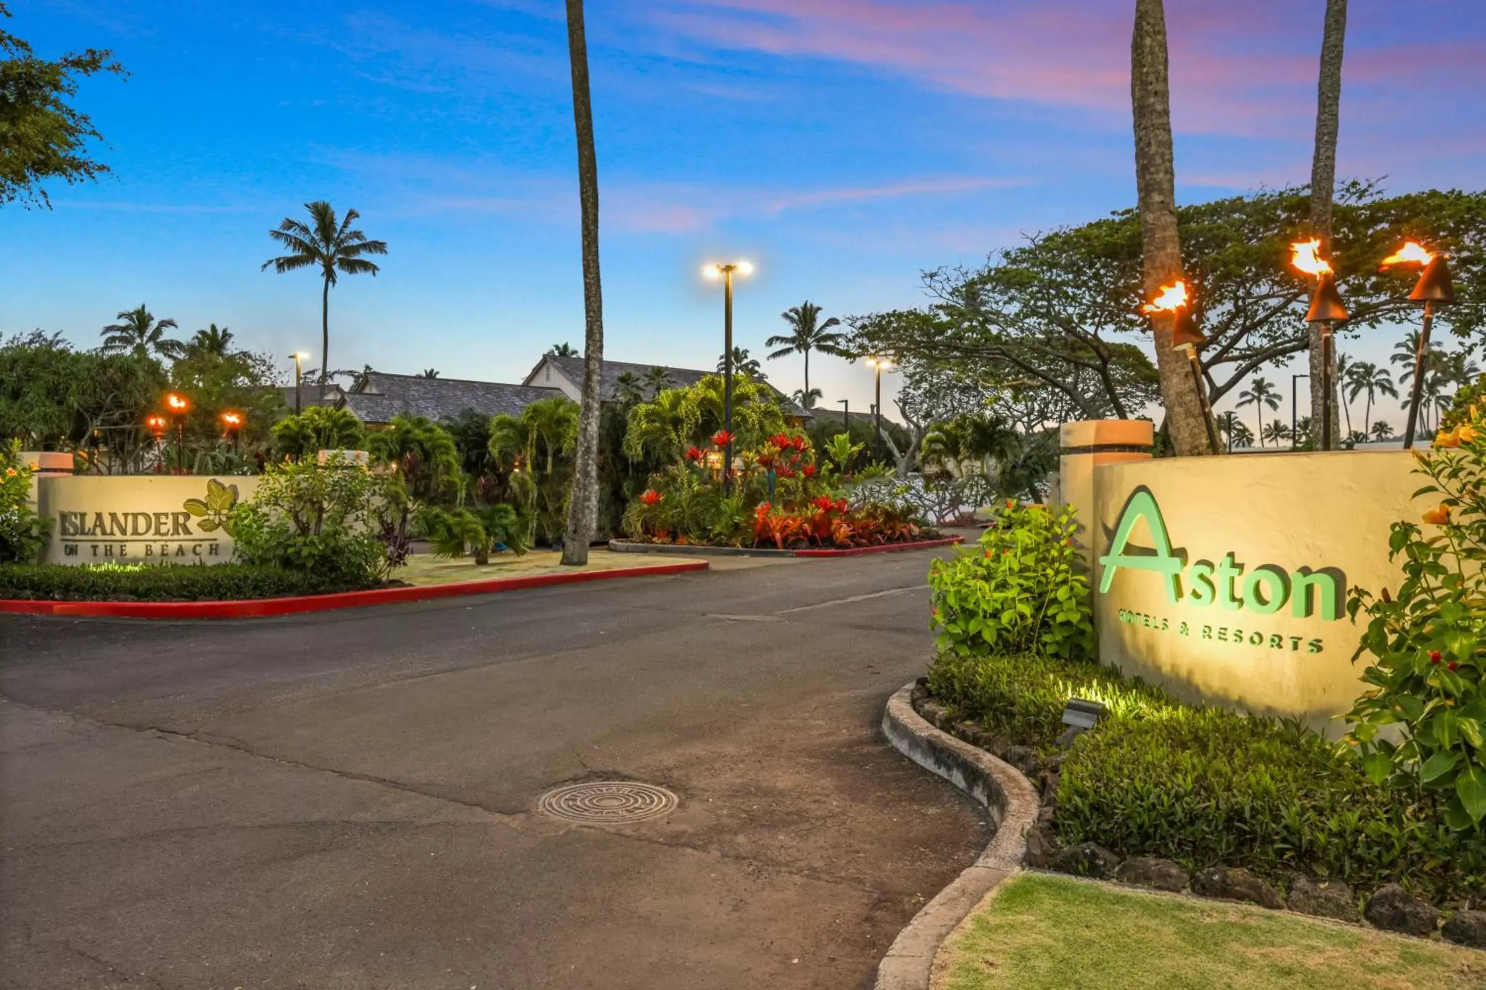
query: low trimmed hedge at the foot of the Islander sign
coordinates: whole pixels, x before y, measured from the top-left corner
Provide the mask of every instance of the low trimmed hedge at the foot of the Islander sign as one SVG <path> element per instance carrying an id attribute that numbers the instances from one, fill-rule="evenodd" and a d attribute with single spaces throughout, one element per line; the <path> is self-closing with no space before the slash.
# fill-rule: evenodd
<path id="1" fill-rule="evenodd" d="M 31 601 L 232 601 L 361 591 L 314 571 L 247 564 L 0 566 L 0 598 Z"/>

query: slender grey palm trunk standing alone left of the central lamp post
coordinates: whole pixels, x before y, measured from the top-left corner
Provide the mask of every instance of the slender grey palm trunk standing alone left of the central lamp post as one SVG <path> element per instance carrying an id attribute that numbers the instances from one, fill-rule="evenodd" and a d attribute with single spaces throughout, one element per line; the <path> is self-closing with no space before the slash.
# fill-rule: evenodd
<path id="1" fill-rule="evenodd" d="M 599 156 L 593 144 L 588 98 L 588 42 L 583 0 L 568 0 L 568 59 L 572 64 L 572 120 L 578 138 L 578 203 L 583 211 L 583 405 L 578 453 L 568 500 L 568 536 L 562 563 L 588 563 L 588 543 L 599 517 L 599 402 L 603 383 L 603 292 L 599 285 Z"/>

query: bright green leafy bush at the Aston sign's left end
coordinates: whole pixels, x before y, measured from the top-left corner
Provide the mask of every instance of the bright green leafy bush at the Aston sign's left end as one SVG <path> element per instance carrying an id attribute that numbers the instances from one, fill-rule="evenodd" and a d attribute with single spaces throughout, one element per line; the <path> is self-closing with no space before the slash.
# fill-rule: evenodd
<path id="1" fill-rule="evenodd" d="M 929 570 L 941 652 L 1094 655 L 1088 576 L 1071 508 L 1008 500 L 979 543 Z"/>

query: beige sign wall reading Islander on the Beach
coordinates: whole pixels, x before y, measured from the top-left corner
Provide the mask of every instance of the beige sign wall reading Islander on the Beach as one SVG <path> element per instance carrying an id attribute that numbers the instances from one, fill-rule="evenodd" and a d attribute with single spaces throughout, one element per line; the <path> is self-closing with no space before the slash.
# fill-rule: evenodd
<path id="1" fill-rule="evenodd" d="M 226 564 L 229 509 L 257 488 L 250 476 L 88 476 L 37 479 L 37 512 L 52 522 L 48 564 Z"/>

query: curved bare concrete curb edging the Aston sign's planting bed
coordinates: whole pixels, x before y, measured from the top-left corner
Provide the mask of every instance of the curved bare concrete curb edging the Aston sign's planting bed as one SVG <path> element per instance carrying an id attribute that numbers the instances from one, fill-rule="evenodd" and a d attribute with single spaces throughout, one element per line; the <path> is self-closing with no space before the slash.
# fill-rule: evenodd
<path id="1" fill-rule="evenodd" d="M 898 934 L 877 968 L 877 990 L 929 990 L 935 954 L 950 934 L 1002 880 L 1021 868 L 1037 791 L 1021 770 L 939 732 L 912 705 L 914 686 L 887 699 L 883 735 L 895 750 L 985 806 L 996 836 L 979 858 L 924 905 Z"/>

